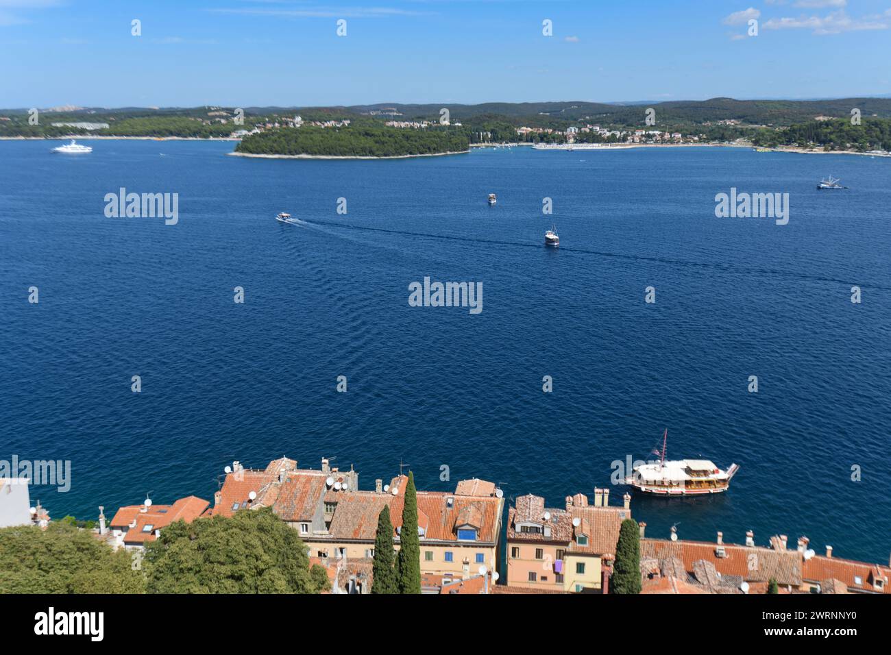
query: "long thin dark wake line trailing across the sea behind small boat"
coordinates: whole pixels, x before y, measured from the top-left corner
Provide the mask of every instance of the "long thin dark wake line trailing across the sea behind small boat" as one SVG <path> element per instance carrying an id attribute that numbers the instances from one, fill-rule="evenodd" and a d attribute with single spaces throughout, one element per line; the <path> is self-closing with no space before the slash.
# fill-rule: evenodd
<path id="1" fill-rule="evenodd" d="M 517 248 L 531 248 L 535 250 L 541 250 L 544 246 L 540 243 L 528 243 L 528 242 L 509 242 L 509 241 L 498 241 L 494 239 L 470 239 L 465 236 L 452 236 L 450 234 L 430 234 L 430 233 L 422 233 L 422 232 L 410 232 L 407 230 L 391 230 L 385 227 L 371 227 L 369 225 L 347 225 L 344 223 L 331 223 L 329 221 L 305 221 L 307 225 L 325 225 L 328 227 L 336 227 L 344 230 L 364 230 L 367 232 L 381 232 L 388 234 L 402 234 L 405 236 L 416 236 L 421 239 L 439 239 L 445 241 L 454 241 L 454 242 L 470 242 L 475 244 L 487 243 L 490 245 L 496 246 L 515 246 Z M 689 267 L 689 268 L 702 268 L 712 271 L 720 271 L 728 274 L 757 274 L 757 275 L 768 275 L 768 276 L 777 276 L 777 277 L 786 277 L 786 278 L 794 278 L 796 280 L 808 280 L 811 282 L 831 282 L 834 284 L 857 284 L 857 286 L 862 289 L 874 289 L 881 291 L 891 291 L 891 286 L 882 285 L 882 284 L 872 284 L 867 282 L 852 282 L 850 280 L 842 280 L 836 277 L 828 277 L 825 275 L 812 275 L 806 273 L 797 273 L 795 271 L 784 271 L 780 268 L 758 268 L 756 266 L 737 266 L 734 264 L 722 264 L 715 262 L 697 262 L 691 261 L 689 259 L 674 259 L 674 258 L 665 258 L 665 257 L 653 257 L 648 255 L 629 255 L 621 252 L 607 252 L 604 250 L 588 250 L 584 248 L 571 248 L 566 246 L 560 246 L 560 252 L 569 252 L 573 254 L 579 255 L 592 255 L 594 257 L 603 257 L 603 258 L 616 258 L 623 259 L 627 261 L 641 261 L 641 262 L 650 262 L 653 264 L 666 264 L 668 266 L 678 266 L 678 267 Z"/>

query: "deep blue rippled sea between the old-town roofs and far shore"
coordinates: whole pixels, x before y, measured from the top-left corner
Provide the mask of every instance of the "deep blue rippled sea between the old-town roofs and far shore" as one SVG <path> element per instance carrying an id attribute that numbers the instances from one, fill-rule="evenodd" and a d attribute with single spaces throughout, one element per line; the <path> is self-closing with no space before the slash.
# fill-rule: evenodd
<path id="1" fill-rule="evenodd" d="M 724 495 L 635 496 L 648 536 L 753 529 L 887 561 L 891 160 L 56 144 L 0 142 L 0 459 L 70 460 L 69 492 L 32 488 L 54 518 L 209 500 L 226 464 L 282 454 L 336 457 L 364 488 L 401 461 L 420 488 L 477 476 L 560 506 L 610 486 L 612 462 L 650 458 L 667 428 L 669 458 L 741 470 Z M 817 191 L 829 174 L 851 188 Z M 178 193 L 178 224 L 105 217 L 120 187 Z M 731 187 L 788 192 L 789 224 L 715 217 Z M 552 224 L 559 250 L 543 245 Z M 409 307 L 424 276 L 483 282 L 483 311 Z"/>

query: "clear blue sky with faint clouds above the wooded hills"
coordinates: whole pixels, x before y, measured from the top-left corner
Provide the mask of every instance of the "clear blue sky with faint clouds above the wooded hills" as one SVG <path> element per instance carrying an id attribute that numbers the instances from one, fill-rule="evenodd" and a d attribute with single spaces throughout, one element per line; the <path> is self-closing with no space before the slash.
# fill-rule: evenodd
<path id="1" fill-rule="evenodd" d="M 7 108 L 848 97 L 889 55 L 891 0 L 0 0 Z"/>

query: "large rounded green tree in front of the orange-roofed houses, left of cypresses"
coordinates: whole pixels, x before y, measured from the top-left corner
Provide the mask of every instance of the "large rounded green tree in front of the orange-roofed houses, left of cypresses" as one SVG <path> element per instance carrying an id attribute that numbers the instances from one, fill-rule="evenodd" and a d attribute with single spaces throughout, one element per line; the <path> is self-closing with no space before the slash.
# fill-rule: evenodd
<path id="1" fill-rule="evenodd" d="M 269 508 L 171 523 L 148 544 L 145 568 L 151 594 L 317 594 L 329 588 L 324 570 L 310 572 L 297 531 Z"/>

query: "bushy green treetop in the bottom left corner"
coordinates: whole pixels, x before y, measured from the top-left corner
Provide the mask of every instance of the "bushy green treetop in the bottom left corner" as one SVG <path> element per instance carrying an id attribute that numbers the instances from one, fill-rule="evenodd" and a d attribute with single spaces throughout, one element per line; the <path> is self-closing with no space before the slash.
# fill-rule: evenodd
<path id="1" fill-rule="evenodd" d="M 2 594 L 142 594 L 130 553 L 69 522 L 0 529 Z"/>

